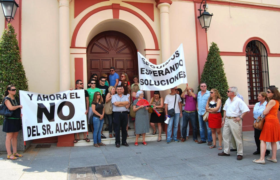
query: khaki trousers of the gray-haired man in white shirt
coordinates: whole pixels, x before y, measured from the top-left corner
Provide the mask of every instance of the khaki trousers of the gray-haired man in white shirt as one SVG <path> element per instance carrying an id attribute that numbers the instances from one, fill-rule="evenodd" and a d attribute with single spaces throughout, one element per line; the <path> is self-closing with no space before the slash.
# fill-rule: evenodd
<path id="1" fill-rule="evenodd" d="M 230 142 L 234 137 L 237 146 L 237 155 L 243 156 L 243 135 L 242 135 L 242 120 L 234 122 L 233 119 L 226 118 L 223 129 L 224 152 L 230 154 Z"/>

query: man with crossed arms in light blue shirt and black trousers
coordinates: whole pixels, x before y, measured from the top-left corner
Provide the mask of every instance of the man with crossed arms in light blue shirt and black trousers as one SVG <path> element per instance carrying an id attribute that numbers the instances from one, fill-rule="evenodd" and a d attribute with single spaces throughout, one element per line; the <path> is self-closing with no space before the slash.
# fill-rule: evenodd
<path id="1" fill-rule="evenodd" d="M 117 94 L 112 96 L 111 102 L 113 106 L 113 114 L 114 114 L 114 132 L 116 136 L 115 144 L 116 147 L 119 148 L 119 144 L 121 143 L 124 146 L 128 146 L 126 142 L 127 138 L 127 109 L 126 105 L 129 104 L 129 100 L 127 95 L 122 94 L 122 87 L 117 86 Z M 120 139 L 119 132 L 121 130 L 122 139 Z"/>

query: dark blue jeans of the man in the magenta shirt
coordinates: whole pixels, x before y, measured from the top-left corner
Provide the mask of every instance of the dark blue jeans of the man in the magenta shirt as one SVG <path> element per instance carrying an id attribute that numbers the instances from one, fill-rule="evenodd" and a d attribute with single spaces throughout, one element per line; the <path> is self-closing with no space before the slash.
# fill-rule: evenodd
<path id="1" fill-rule="evenodd" d="M 192 124 L 192 139 L 197 140 L 196 112 L 183 112 L 183 138 L 187 137 L 188 124 Z"/>

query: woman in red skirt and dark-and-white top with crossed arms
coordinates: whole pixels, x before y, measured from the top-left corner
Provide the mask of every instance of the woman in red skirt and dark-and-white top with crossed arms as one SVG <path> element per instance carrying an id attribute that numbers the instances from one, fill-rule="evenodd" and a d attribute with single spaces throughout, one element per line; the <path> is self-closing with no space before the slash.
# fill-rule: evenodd
<path id="1" fill-rule="evenodd" d="M 216 148 L 216 132 L 218 134 L 218 140 L 219 140 L 219 148 L 218 150 L 222 150 L 222 115 L 220 113 L 221 111 L 221 96 L 219 94 L 219 91 L 217 89 L 211 89 L 210 91 L 210 97 L 206 103 L 206 111 L 209 112 L 208 116 L 208 125 L 209 128 L 211 128 L 212 131 L 212 138 L 213 138 L 213 145 L 209 148 Z"/>

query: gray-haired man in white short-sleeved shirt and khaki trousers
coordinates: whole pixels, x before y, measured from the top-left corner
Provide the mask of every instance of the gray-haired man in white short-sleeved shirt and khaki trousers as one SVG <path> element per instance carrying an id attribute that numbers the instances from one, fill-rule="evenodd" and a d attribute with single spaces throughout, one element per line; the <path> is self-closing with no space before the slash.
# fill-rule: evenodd
<path id="1" fill-rule="evenodd" d="M 236 95 L 238 90 L 236 86 L 230 87 L 227 91 L 228 99 L 226 100 L 224 117 L 222 121 L 224 152 L 218 153 L 218 156 L 230 156 L 230 142 L 234 136 L 237 145 L 237 160 L 243 158 L 243 141 L 242 141 L 242 119 L 250 111 L 248 106 Z"/>

